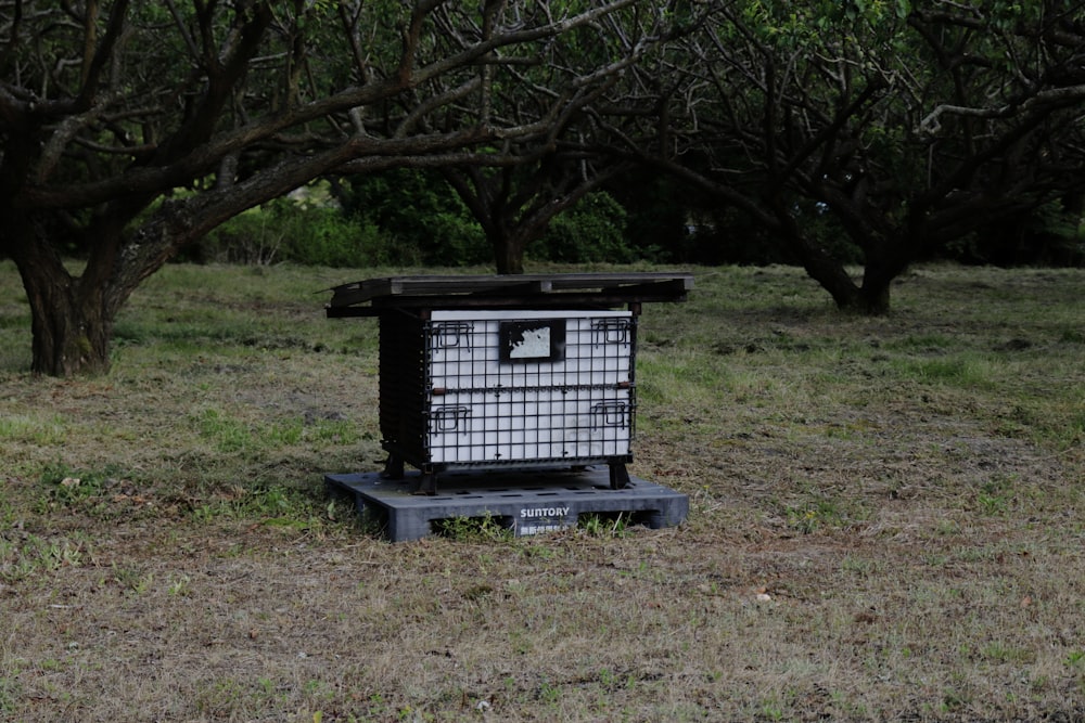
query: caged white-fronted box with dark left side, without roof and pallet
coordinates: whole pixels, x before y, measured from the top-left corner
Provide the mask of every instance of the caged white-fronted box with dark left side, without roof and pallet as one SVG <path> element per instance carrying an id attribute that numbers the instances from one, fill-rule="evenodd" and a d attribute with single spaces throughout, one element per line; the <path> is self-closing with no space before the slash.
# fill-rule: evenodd
<path id="1" fill-rule="evenodd" d="M 432 311 L 381 319 L 385 448 L 423 469 L 626 462 L 630 311 Z"/>

